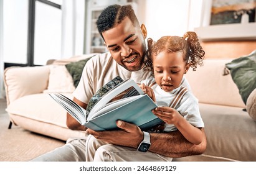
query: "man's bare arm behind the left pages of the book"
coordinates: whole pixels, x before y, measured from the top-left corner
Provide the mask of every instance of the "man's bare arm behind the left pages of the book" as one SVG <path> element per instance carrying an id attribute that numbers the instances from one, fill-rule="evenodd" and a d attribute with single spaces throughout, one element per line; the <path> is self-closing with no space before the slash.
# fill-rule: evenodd
<path id="1" fill-rule="evenodd" d="M 87 108 L 87 104 L 82 103 L 82 101 L 73 98 L 73 101 L 77 103 L 79 106 L 81 106 L 83 109 Z M 79 122 L 77 122 L 72 116 L 70 116 L 69 112 L 67 112 L 67 121 L 66 121 L 67 127 L 72 130 L 77 131 L 85 131 L 87 127 L 82 126 Z"/>

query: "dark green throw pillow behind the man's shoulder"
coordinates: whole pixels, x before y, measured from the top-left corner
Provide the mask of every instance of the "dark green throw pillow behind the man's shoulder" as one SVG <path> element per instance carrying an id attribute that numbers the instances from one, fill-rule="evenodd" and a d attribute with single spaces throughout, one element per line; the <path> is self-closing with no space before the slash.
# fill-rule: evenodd
<path id="1" fill-rule="evenodd" d="M 73 78 L 73 85 L 75 86 L 75 88 L 77 88 L 77 85 L 82 76 L 83 67 L 85 66 L 85 64 L 87 63 L 87 61 L 89 59 L 90 58 L 87 58 L 84 60 L 79 60 L 78 62 L 72 62 L 72 63 L 65 65 L 67 70 L 69 71 L 70 75 Z"/>

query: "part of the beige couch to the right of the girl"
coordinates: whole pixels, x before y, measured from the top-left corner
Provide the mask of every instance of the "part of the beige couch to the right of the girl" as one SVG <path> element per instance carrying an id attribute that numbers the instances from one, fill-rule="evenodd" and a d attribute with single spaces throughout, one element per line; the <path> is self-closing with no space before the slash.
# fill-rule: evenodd
<path id="1" fill-rule="evenodd" d="M 204 66 L 186 74 L 199 99 L 207 149 L 202 155 L 176 160 L 256 161 L 256 121 L 242 111 L 245 104 L 232 77 L 222 75 L 230 61 L 204 60 Z"/>

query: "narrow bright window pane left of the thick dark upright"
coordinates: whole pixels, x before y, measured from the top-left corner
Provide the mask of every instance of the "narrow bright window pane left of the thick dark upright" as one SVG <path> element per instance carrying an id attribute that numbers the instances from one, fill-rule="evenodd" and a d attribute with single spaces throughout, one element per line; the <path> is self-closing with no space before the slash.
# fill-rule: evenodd
<path id="1" fill-rule="evenodd" d="M 27 63 L 27 29 L 29 0 L 4 0 L 4 62 Z"/>

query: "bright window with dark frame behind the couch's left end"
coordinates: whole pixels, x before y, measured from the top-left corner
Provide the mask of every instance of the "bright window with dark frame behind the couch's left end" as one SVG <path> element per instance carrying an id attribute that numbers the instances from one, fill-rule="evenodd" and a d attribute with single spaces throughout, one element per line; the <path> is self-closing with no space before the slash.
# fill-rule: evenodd
<path id="1" fill-rule="evenodd" d="M 4 68 L 59 58 L 62 0 L 4 0 Z"/>

